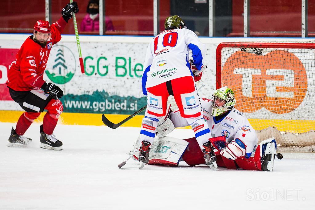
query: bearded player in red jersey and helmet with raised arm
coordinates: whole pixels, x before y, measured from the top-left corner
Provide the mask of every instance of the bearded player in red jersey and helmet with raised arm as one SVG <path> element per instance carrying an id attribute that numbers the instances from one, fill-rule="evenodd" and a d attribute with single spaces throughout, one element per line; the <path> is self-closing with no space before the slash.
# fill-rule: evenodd
<path id="1" fill-rule="evenodd" d="M 16 128 L 12 127 L 8 146 L 26 146 L 31 142 L 24 133 L 44 109 L 47 113 L 40 126 L 41 148 L 61 150 L 62 142 L 53 134 L 58 118 L 63 111 L 59 98 L 63 91 L 53 83 L 43 80 L 49 53 L 53 44 L 61 39 L 61 33 L 73 13 L 79 11 L 77 3 L 68 3 L 61 11 L 62 17 L 52 25 L 48 21 L 38 20 L 33 35 L 20 47 L 16 60 L 8 72 L 7 86 L 12 99 L 26 111 Z"/>

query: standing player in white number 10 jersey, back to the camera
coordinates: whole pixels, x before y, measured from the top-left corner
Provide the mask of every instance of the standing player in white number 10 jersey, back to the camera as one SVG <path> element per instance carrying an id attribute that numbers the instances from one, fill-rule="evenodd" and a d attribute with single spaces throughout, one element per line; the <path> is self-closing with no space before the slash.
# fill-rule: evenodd
<path id="1" fill-rule="evenodd" d="M 199 147 L 204 150 L 205 163 L 215 167 L 215 157 L 211 151 L 210 130 L 203 120 L 201 107 L 192 69 L 188 63 L 192 50 L 193 63 L 197 71 L 203 68 L 204 45 L 197 35 L 187 29 L 178 16 L 165 20 L 165 30 L 150 42 L 142 76 L 143 94 L 147 95 L 147 108 L 140 131 L 140 168 L 148 162 L 150 146 L 155 137 L 159 119 L 166 114 L 167 99 L 173 95 L 179 108 L 179 115 L 189 125 L 198 123 L 194 129 Z"/>

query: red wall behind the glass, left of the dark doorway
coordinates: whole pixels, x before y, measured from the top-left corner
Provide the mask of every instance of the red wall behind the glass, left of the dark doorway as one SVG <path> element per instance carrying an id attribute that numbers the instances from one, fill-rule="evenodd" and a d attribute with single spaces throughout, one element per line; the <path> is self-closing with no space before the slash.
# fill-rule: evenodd
<path id="1" fill-rule="evenodd" d="M 61 17 L 61 9 L 69 1 L 51 0 L 52 3 L 52 21 L 55 22 Z M 88 0 L 76 0 L 79 6 L 79 13 L 76 15 L 78 30 L 80 24 L 86 15 Z M 153 1 L 151 0 L 106 0 L 106 16 L 112 19 L 116 31 L 130 32 L 152 32 L 153 35 Z M 160 11 L 162 17 L 169 16 L 169 0 L 160 0 L 163 9 Z M 0 32 L 25 32 L 31 33 L 35 22 L 38 19 L 45 20 L 45 1 L 20 1 L 10 0 L 0 2 L 0 28 L 15 28 L 15 30 L 1 30 Z M 162 20 L 163 19 L 163 20 Z M 164 25 L 164 19 L 161 24 Z M 18 30 L 25 28 L 28 30 Z M 74 34 L 72 20 L 64 30 L 65 34 Z"/>

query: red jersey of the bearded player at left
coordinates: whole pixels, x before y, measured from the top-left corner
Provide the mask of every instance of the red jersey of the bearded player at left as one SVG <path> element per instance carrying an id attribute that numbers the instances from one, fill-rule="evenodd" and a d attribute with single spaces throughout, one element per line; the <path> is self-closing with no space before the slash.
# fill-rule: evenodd
<path id="1" fill-rule="evenodd" d="M 39 89 L 43 84 L 43 73 L 47 65 L 49 53 L 53 44 L 61 39 L 61 32 L 66 26 L 66 21 L 61 17 L 51 25 L 51 38 L 42 48 L 28 37 L 16 54 L 16 60 L 8 72 L 7 86 L 16 91 Z"/>

